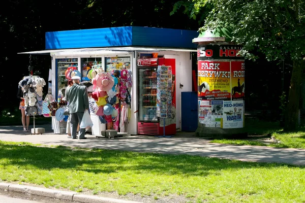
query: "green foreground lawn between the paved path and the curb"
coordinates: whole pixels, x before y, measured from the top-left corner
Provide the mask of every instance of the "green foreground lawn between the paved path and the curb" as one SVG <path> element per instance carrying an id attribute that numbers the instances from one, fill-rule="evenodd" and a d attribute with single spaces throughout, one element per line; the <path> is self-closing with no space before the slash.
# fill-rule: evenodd
<path id="1" fill-rule="evenodd" d="M 305 201 L 304 167 L 2 141 L 0 181 L 182 202 Z"/>

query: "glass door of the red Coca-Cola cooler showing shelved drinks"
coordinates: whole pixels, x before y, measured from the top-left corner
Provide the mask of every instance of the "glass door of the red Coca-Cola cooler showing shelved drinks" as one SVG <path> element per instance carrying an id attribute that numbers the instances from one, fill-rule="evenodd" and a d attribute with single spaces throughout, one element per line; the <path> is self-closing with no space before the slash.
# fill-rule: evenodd
<path id="1" fill-rule="evenodd" d="M 157 67 L 139 69 L 139 121 L 157 122 Z"/>

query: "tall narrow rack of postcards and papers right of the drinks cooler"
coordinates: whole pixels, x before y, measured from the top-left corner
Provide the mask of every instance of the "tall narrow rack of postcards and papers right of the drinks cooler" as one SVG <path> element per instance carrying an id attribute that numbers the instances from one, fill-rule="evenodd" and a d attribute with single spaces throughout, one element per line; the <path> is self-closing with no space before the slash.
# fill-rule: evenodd
<path id="1" fill-rule="evenodd" d="M 157 117 L 170 118 L 172 114 L 172 69 L 158 65 L 157 70 Z"/>

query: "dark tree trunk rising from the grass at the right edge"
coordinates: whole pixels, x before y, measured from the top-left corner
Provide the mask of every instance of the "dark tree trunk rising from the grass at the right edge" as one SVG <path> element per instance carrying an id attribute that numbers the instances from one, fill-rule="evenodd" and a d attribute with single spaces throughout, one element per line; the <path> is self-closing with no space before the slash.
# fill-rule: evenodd
<path id="1" fill-rule="evenodd" d="M 303 60 L 294 60 L 290 81 L 288 105 L 285 112 L 285 130 L 294 130 L 298 127 L 298 110 L 301 95 L 303 75 Z"/>

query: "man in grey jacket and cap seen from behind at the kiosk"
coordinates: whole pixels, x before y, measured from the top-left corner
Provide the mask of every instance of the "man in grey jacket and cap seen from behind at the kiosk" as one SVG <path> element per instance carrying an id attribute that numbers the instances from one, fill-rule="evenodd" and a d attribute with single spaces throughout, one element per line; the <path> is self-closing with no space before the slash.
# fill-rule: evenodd
<path id="1" fill-rule="evenodd" d="M 73 85 L 66 92 L 66 100 L 69 102 L 71 116 L 71 136 L 76 139 L 77 125 L 80 124 L 84 111 L 89 109 L 89 100 L 86 86 L 79 84 L 80 77 L 74 76 L 71 79 Z M 79 139 L 86 139 L 86 129 L 80 128 L 79 131 Z"/>

